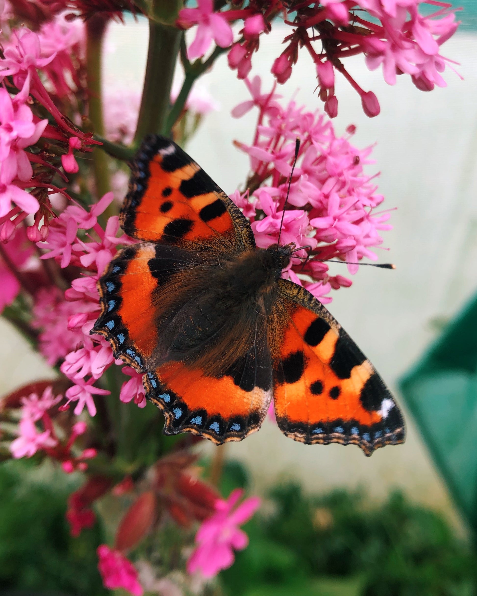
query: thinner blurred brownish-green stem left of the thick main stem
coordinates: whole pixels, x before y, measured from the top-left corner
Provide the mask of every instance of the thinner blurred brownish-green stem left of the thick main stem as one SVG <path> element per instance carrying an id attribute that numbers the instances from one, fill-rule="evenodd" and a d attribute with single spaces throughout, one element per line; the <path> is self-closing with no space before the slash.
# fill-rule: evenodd
<path id="1" fill-rule="evenodd" d="M 108 20 L 107 15 L 98 13 L 86 21 L 86 79 L 89 94 L 89 120 L 91 120 L 95 134 L 101 136 L 104 136 L 101 64 L 104 32 Z M 92 166 L 97 198 L 111 190 L 108 162 L 109 157 L 106 153 L 96 147 L 92 152 Z"/>

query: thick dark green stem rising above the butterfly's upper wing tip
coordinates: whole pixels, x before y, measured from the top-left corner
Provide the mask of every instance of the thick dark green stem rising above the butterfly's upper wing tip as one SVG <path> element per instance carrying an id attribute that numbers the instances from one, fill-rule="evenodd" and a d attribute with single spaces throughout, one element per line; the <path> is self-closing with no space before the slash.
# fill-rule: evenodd
<path id="1" fill-rule="evenodd" d="M 147 134 L 165 134 L 171 98 L 172 77 L 182 32 L 149 21 L 149 48 L 145 69 L 143 98 L 134 136 L 137 148 Z"/>

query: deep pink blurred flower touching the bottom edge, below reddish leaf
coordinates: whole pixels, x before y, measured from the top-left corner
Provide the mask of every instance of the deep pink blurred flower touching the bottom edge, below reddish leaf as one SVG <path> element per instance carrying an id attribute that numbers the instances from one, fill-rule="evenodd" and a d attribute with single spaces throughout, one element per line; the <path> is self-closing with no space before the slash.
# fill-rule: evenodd
<path id="1" fill-rule="evenodd" d="M 143 586 L 138 582 L 138 572 L 134 565 L 119 551 L 101 544 L 97 551 L 98 569 L 105 588 L 123 588 L 134 596 L 143 596 Z"/>

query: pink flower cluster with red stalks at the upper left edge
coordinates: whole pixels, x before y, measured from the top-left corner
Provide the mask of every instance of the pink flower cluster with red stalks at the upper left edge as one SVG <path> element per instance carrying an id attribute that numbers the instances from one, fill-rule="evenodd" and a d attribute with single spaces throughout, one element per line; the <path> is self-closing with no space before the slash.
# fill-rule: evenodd
<path id="1" fill-rule="evenodd" d="M 57 19 L 45 24 L 39 33 L 23 27 L 13 30 L 7 41 L 2 40 L 4 52 L 0 58 L 0 225 L 2 240 L 13 237 L 14 230 L 28 215 L 35 214 L 33 225 L 27 228 L 29 240 L 45 240 L 49 219 L 54 216 L 48 194 L 62 192 L 52 179 L 57 173 L 67 181 L 58 166 L 69 173 L 78 172 L 73 150 L 91 151 L 91 134 L 79 131 L 66 119 L 42 83 L 39 71 L 45 73 L 58 98 L 72 93 L 69 82 L 80 87 L 79 63 L 82 33 Z M 76 52 L 76 54 L 75 54 Z M 16 89 L 13 89 L 14 85 Z M 30 105 L 30 94 L 51 114 L 55 125 L 40 119 Z M 12 97 L 13 95 L 13 97 Z M 40 138 L 58 145 L 57 159 L 45 153 Z M 41 145 L 41 146 L 38 146 Z M 36 150 L 29 148 L 37 145 Z M 38 172 L 32 167 L 38 164 Z M 45 170 L 45 167 L 47 169 Z M 29 192 L 26 191 L 26 189 Z"/>

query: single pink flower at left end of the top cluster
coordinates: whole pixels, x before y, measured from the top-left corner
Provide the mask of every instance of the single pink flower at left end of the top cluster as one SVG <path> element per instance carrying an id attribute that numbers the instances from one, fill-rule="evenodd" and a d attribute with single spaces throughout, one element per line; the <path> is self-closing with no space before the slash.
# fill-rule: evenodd
<path id="1" fill-rule="evenodd" d="M 179 12 L 179 23 L 183 27 L 199 25 L 196 38 L 187 51 L 189 60 L 203 56 L 212 39 L 221 48 L 227 48 L 234 41 L 232 29 L 224 15 L 213 12 L 212 0 L 197 0 L 197 4 L 197 8 L 182 8 Z"/>

